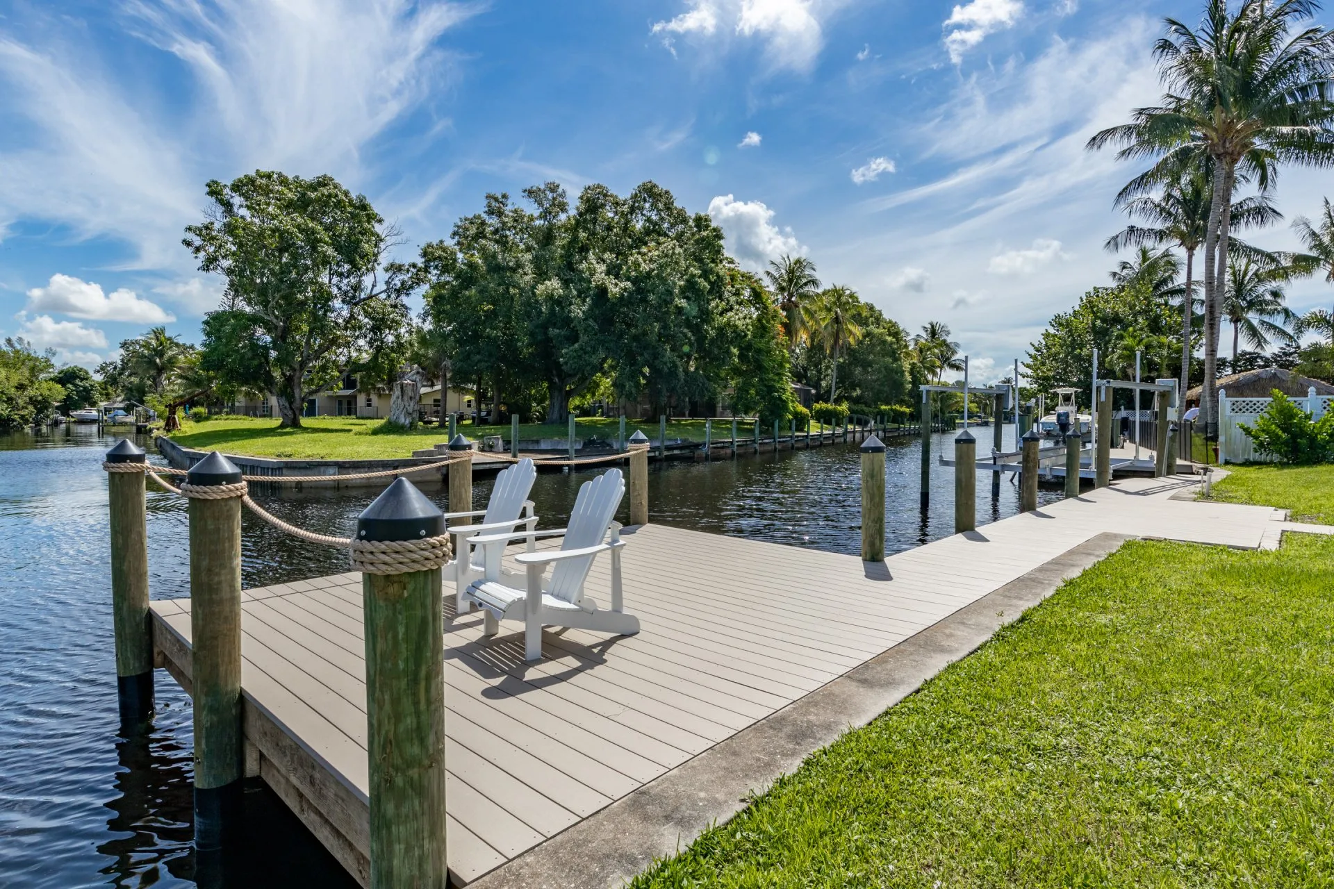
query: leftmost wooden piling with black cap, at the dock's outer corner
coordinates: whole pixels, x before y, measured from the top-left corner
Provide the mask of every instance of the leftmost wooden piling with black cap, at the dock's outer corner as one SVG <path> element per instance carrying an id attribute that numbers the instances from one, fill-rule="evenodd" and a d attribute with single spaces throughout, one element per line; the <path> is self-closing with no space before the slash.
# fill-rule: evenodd
<path id="1" fill-rule="evenodd" d="M 107 452 L 108 464 L 144 464 L 128 439 Z M 116 638 L 116 697 L 123 725 L 153 710 L 153 638 L 148 617 L 148 526 L 143 472 L 108 472 L 111 508 L 111 617 Z"/>

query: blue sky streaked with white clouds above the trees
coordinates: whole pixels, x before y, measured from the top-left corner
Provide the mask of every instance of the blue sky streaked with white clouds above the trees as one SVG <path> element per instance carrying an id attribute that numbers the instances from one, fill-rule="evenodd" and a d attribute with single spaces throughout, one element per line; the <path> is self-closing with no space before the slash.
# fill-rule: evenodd
<path id="1" fill-rule="evenodd" d="M 180 239 L 209 179 L 332 173 L 404 257 L 488 191 L 652 179 L 744 265 L 804 253 L 999 376 L 1114 267 L 1135 171 L 1083 143 L 1157 99 L 1161 19 L 1199 5 L 0 3 L 0 335 L 83 364 L 156 323 L 197 340 L 220 284 Z M 1277 199 L 1325 195 L 1327 171 L 1289 169 Z"/>

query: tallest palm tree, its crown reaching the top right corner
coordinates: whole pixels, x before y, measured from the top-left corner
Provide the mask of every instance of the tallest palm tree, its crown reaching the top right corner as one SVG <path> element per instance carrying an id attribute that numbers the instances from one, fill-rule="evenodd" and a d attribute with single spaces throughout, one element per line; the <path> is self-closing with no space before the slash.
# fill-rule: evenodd
<path id="1" fill-rule="evenodd" d="M 1235 15 L 1227 0 L 1206 0 L 1198 29 L 1165 19 L 1167 35 L 1154 45 L 1163 104 L 1137 108 L 1131 123 L 1089 140 L 1089 148 L 1122 145 L 1118 157 L 1155 157 L 1131 191 L 1167 181 L 1182 169 L 1213 164 L 1213 195 L 1205 229 L 1206 433 L 1217 435 L 1219 309 L 1229 256 L 1230 212 L 1238 177 L 1269 191 L 1274 164 L 1334 163 L 1334 33 L 1311 25 L 1315 0 L 1243 0 Z"/>

